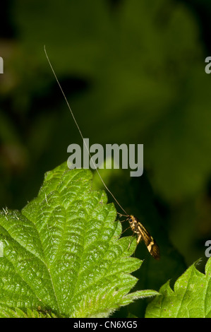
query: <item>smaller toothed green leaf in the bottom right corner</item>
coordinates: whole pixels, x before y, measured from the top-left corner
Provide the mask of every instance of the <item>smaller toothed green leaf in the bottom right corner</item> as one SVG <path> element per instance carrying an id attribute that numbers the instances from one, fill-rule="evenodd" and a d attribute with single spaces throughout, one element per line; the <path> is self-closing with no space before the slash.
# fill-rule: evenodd
<path id="1" fill-rule="evenodd" d="M 147 306 L 146 317 L 211 317 L 211 258 L 205 266 L 205 274 L 200 273 L 195 262 L 176 280 L 174 291 L 169 281 L 159 290 Z"/>

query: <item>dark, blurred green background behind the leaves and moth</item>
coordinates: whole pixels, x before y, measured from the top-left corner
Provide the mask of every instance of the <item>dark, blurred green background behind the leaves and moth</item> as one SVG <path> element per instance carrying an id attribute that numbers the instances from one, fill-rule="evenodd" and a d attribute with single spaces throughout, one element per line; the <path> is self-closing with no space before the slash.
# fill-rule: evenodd
<path id="1" fill-rule="evenodd" d="M 144 144 L 142 177 L 102 172 L 161 249 L 159 262 L 143 244 L 136 249 L 135 256 L 145 257 L 135 273 L 137 288 L 159 290 L 193 261 L 205 261 L 211 238 L 210 1 L 7 0 L 0 15 L 0 206 L 23 208 L 37 195 L 44 172 L 67 160 L 68 145 L 82 145 L 46 45 L 90 144 Z M 97 177 L 95 186 L 102 187 Z M 116 315 L 143 316 L 144 306 L 141 300 Z"/>

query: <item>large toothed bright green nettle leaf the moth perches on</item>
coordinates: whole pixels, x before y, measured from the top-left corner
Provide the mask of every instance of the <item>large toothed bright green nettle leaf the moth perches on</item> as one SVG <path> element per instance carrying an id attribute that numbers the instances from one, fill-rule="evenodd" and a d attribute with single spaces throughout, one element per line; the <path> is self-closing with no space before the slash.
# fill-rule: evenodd
<path id="1" fill-rule="evenodd" d="M 135 241 L 121 235 L 114 205 L 93 191 L 90 170 L 66 163 L 45 174 L 23 210 L 0 213 L 0 316 L 102 317 L 153 290 L 129 293 Z"/>

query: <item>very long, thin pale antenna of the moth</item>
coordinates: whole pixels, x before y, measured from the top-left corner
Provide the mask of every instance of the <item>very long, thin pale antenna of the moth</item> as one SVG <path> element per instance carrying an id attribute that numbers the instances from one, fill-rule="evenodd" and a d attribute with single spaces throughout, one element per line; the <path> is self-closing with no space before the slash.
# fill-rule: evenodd
<path id="1" fill-rule="evenodd" d="M 77 121 L 76 121 L 76 118 L 74 117 L 73 111 L 72 111 L 72 109 L 71 109 L 71 107 L 70 107 L 70 105 L 69 105 L 69 103 L 68 103 L 68 100 L 67 100 L 67 98 L 66 98 L 66 95 L 64 94 L 64 91 L 63 91 L 62 88 L 61 88 L 61 85 L 60 85 L 59 80 L 58 80 L 58 78 L 57 78 L 57 76 L 56 76 L 56 73 L 55 73 L 55 71 L 54 71 L 54 69 L 53 69 L 53 67 L 52 67 L 51 61 L 49 60 L 49 57 L 48 57 L 47 52 L 46 52 L 46 49 L 45 49 L 45 45 L 44 45 L 44 53 L 45 53 L 45 55 L 46 55 L 46 57 L 47 57 L 47 61 L 49 62 L 49 66 L 51 67 L 52 72 L 54 73 L 54 76 L 55 76 L 55 78 L 56 78 L 56 82 L 57 82 L 58 85 L 59 85 L 59 88 L 60 88 L 60 90 L 61 90 L 61 93 L 64 95 L 64 99 L 65 99 L 65 101 L 66 101 L 66 104 L 68 105 L 68 109 L 71 111 L 71 115 L 72 115 L 72 117 L 73 117 L 73 120 L 74 120 L 74 122 L 75 122 L 77 128 L 78 128 L 78 131 L 79 131 L 80 136 L 81 136 L 81 138 L 82 138 L 82 140 L 83 140 L 83 143 L 84 143 L 84 145 L 85 145 L 85 148 L 88 150 L 88 154 L 89 154 L 89 156 L 90 156 L 90 160 L 92 160 L 92 157 L 91 157 L 91 155 L 90 155 L 90 151 L 89 151 L 88 146 L 87 146 L 87 144 L 86 144 L 86 142 L 85 142 L 85 140 L 84 140 L 84 138 L 83 138 L 82 132 L 80 131 L 80 128 L 79 128 L 79 126 L 78 126 L 78 123 L 77 123 Z M 99 175 L 99 177 L 100 177 L 100 179 L 101 179 L 101 181 L 102 181 L 102 184 L 104 184 L 104 187 L 107 189 L 107 191 L 109 192 L 109 194 L 111 194 L 111 196 L 114 198 L 114 201 L 116 201 L 116 203 L 119 205 L 119 207 L 121 208 L 121 210 L 122 210 L 124 213 L 126 213 L 126 211 L 123 209 L 123 207 L 119 204 L 119 201 L 117 201 L 117 199 L 116 199 L 116 198 L 114 197 L 114 195 L 111 193 L 111 191 L 109 190 L 109 188 L 107 187 L 107 185 L 104 183 L 104 181 L 103 181 L 103 179 L 102 179 L 102 177 L 101 177 L 101 175 L 100 175 L 100 172 L 97 170 L 97 167 L 96 167 L 96 165 L 95 165 L 95 162 L 93 162 L 93 160 L 92 160 L 92 164 L 94 165 L 95 170 L 97 171 L 97 174 Z M 128 213 L 126 213 L 126 216 L 128 216 Z"/>

